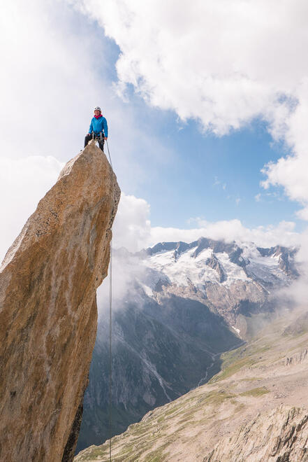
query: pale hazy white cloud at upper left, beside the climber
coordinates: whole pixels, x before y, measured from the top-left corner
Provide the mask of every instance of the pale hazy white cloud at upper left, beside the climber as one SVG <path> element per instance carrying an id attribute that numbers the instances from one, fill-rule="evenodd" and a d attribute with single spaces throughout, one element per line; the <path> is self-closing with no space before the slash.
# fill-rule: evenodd
<path id="1" fill-rule="evenodd" d="M 91 39 L 73 31 L 58 1 L 12 0 L 1 13 L 2 152 L 68 159 L 82 146 L 98 96 Z"/>

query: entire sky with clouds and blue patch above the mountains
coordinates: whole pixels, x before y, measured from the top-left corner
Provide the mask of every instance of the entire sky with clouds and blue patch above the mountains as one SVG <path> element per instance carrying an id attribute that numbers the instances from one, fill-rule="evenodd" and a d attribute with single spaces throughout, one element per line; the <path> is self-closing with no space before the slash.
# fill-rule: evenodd
<path id="1" fill-rule="evenodd" d="M 303 0 L 12 0 L 0 18 L 0 258 L 94 106 L 122 190 L 114 246 L 298 245 L 308 220 Z"/>

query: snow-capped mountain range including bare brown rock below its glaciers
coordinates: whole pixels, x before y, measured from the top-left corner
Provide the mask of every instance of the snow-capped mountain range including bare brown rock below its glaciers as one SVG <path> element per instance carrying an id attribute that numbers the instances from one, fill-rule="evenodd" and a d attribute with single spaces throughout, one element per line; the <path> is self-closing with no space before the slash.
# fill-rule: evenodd
<path id="1" fill-rule="evenodd" d="M 295 253 L 295 248 L 240 247 L 204 237 L 190 244 L 161 242 L 138 253 L 145 268 L 138 281 L 157 301 L 172 294 L 190 297 L 235 325 L 238 314 L 273 303 L 277 290 L 298 276 Z"/>

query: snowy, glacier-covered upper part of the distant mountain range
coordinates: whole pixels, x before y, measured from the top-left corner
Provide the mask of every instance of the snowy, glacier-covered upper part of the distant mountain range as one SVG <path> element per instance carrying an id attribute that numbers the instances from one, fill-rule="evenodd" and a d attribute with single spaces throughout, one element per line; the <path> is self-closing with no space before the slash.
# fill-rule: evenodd
<path id="1" fill-rule="evenodd" d="M 148 248 L 145 265 L 165 274 L 169 283 L 204 289 L 207 283 L 230 287 L 236 281 L 258 281 L 270 288 L 295 275 L 295 249 L 225 244 L 201 237 L 198 241 L 163 242 Z M 141 253 L 142 255 L 142 253 Z M 292 269 L 293 271 L 292 271 Z"/>

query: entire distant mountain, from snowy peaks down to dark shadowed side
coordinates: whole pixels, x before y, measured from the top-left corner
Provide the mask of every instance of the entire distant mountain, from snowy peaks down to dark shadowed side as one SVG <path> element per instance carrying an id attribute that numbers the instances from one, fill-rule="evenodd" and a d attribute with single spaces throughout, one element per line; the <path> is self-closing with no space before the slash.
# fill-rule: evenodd
<path id="1" fill-rule="evenodd" d="M 216 374 L 220 353 L 242 343 L 238 333 L 249 334 L 251 314 L 267 316 L 276 291 L 297 276 L 294 255 L 279 246 L 240 248 L 205 238 L 160 243 L 135 255 L 117 251 L 113 434 Z M 108 437 L 107 337 L 102 320 L 78 450 Z"/>

